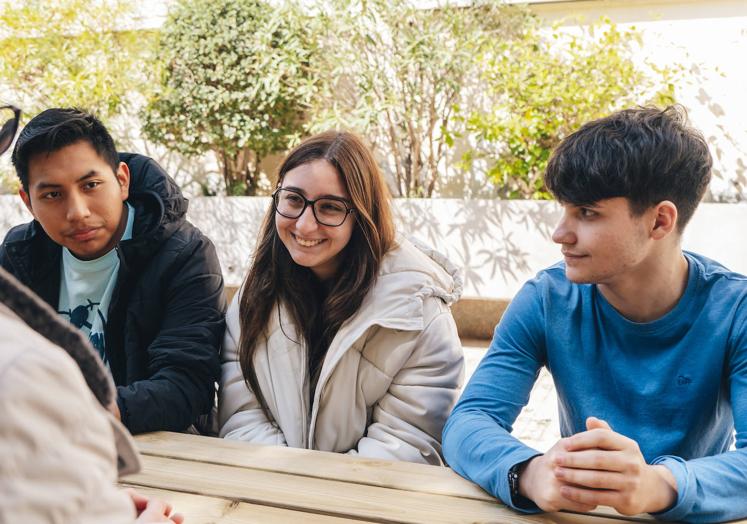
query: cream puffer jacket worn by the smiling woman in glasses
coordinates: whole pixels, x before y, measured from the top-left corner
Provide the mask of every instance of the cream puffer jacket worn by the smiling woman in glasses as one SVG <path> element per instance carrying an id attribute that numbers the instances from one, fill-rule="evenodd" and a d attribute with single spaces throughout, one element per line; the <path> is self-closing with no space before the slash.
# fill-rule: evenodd
<path id="1" fill-rule="evenodd" d="M 294 341 L 302 338 L 287 312 L 275 308 L 269 336 L 254 357 L 274 423 L 264 416 L 239 365 L 237 293 L 221 357 L 220 435 L 443 464 L 441 430 L 464 379 L 464 355 L 449 310 L 461 289 L 445 257 L 398 239 L 361 307 L 332 340 L 311 409 L 305 344 Z"/>

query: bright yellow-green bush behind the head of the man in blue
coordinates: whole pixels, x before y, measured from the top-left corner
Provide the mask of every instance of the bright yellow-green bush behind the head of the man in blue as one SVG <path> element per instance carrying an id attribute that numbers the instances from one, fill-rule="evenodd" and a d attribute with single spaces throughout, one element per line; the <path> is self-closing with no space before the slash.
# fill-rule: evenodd
<path id="1" fill-rule="evenodd" d="M 464 164 L 487 165 L 501 198 L 550 198 L 542 181 L 550 153 L 584 122 L 624 107 L 674 102 L 681 68 L 636 63 L 635 28 L 602 20 L 580 33 L 547 29 L 533 20 L 483 57 L 490 103 L 468 118 L 477 147 Z"/>

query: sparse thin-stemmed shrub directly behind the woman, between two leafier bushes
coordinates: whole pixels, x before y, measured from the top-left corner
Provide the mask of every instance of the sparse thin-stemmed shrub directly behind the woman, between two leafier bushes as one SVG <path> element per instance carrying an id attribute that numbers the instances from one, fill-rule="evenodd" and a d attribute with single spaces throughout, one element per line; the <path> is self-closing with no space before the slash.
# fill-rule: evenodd
<path id="1" fill-rule="evenodd" d="M 318 68 L 324 89 L 312 130 L 365 134 L 393 172 L 399 196 L 430 197 L 464 129 L 475 59 L 528 16 L 499 0 L 424 9 L 410 0 L 331 0 L 317 7 L 324 28 Z"/>

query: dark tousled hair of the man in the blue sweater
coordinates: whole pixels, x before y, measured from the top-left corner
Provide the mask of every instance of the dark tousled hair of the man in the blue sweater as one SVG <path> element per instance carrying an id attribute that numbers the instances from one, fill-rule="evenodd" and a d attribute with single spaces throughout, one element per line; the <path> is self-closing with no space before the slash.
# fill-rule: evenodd
<path id="1" fill-rule="evenodd" d="M 625 197 L 641 215 L 663 200 L 677 206 L 682 232 L 711 180 L 713 159 L 680 105 L 625 109 L 563 139 L 547 164 L 545 185 L 560 202 L 591 205 Z"/>

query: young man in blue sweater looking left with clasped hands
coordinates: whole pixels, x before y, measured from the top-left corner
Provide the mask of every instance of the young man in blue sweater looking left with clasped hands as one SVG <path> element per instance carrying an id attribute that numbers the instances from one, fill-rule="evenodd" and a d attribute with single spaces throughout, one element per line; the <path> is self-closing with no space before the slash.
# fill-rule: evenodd
<path id="1" fill-rule="evenodd" d="M 677 107 L 563 140 L 545 181 L 565 261 L 496 328 L 444 429 L 451 467 L 526 512 L 747 516 L 747 277 L 681 249 L 711 164 Z M 542 366 L 563 435 L 544 454 L 510 434 Z"/>

